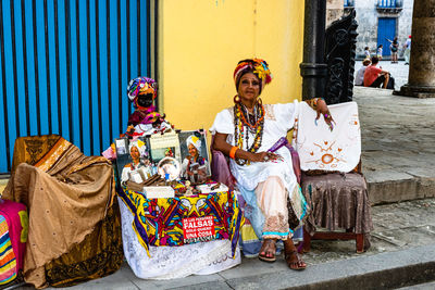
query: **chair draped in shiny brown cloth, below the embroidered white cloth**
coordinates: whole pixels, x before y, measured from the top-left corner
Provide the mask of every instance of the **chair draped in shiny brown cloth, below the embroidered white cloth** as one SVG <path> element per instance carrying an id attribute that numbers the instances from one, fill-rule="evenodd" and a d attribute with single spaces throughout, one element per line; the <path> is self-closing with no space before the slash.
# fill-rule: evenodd
<path id="1" fill-rule="evenodd" d="M 362 174 L 353 172 L 308 176 L 302 173 L 301 188 L 311 207 L 303 227 L 304 252 L 310 251 L 311 240 L 355 240 L 357 253 L 370 248 L 368 234 L 372 223 L 366 182 Z M 341 206 L 347 203 L 347 209 L 340 211 L 337 209 L 339 204 L 332 204 L 337 201 L 341 201 Z M 318 227 L 326 228 L 327 231 L 318 231 Z"/>

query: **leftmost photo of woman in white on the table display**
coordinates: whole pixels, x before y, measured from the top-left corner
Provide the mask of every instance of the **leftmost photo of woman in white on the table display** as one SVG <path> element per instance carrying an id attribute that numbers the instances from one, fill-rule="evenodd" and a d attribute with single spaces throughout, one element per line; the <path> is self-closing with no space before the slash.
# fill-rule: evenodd
<path id="1" fill-rule="evenodd" d="M 127 138 L 115 139 L 117 180 L 141 184 L 156 172 L 150 157 L 149 138 L 140 137 L 132 141 Z"/>

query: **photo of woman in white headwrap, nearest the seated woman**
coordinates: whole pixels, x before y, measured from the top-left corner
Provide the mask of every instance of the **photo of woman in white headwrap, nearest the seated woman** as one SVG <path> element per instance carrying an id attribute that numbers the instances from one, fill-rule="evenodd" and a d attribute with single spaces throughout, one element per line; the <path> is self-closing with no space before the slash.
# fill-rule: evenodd
<path id="1" fill-rule="evenodd" d="M 211 175 L 209 146 L 206 131 L 191 130 L 178 133 L 182 152 L 182 178 L 200 184 Z"/>

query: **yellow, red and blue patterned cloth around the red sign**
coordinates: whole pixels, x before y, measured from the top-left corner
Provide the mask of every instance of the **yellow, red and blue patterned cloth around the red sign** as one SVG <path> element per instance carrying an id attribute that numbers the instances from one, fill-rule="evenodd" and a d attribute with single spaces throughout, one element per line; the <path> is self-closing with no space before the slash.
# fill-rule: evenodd
<path id="1" fill-rule="evenodd" d="M 117 193 L 133 213 L 133 228 L 147 252 L 149 245 L 183 245 L 183 218 L 213 216 L 215 239 L 229 239 L 235 254 L 244 217 L 234 191 L 151 200 L 124 188 Z"/>

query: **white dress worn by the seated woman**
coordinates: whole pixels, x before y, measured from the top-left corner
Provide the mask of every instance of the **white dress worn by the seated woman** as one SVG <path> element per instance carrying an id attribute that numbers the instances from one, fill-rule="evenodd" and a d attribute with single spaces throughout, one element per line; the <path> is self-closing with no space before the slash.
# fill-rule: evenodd
<path id="1" fill-rule="evenodd" d="M 265 152 L 281 138 L 286 138 L 288 130 L 295 125 L 299 103 L 264 105 L 264 128 L 261 147 L 257 152 Z M 210 131 L 227 134 L 227 142 L 235 146 L 234 109 L 225 109 L 217 113 Z M 254 135 L 248 133 L 249 143 L 244 140 L 244 150 L 253 142 Z M 282 147 L 275 153 L 282 160 L 269 162 L 251 162 L 238 165 L 231 160 L 229 167 L 237 180 L 237 188 L 247 205 L 245 216 L 251 222 L 259 238 L 287 239 L 293 230 L 288 224 L 287 197 L 294 200 L 300 197 L 299 185 L 293 171 L 290 151 Z"/>

